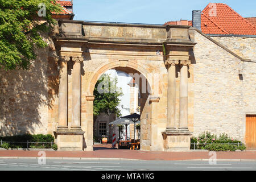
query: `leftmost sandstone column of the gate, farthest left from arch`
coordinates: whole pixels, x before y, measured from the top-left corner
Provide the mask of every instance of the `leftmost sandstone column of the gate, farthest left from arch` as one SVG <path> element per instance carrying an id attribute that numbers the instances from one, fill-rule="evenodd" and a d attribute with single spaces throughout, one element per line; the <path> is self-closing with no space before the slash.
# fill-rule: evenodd
<path id="1" fill-rule="evenodd" d="M 68 129 L 68 56 L 60 56 L 59 123 L 57 129 Z"/>

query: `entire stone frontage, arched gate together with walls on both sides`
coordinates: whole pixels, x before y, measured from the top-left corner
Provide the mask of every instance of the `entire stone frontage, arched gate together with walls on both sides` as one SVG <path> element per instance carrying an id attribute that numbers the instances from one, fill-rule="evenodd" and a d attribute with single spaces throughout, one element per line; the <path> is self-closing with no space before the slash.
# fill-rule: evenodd
<path id="1" fill-rule="evenodd" d="M 138 85 L 141 150 L 189 150 L 203 131 L 243 143 L 255 137 L 246 129 L 256 114 L 255 38 L 73 20 L 43 36 L 49 46 L 30 70 L 0 71 L 1 135 L 52 134 L 59 150 L 93 150 L 94 85 L 116 69 Z"/>

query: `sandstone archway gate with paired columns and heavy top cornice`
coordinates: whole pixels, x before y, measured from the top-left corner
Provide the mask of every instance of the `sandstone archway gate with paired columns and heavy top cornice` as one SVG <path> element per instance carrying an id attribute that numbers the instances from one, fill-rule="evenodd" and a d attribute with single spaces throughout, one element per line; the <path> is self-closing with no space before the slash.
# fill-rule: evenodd
<path id="1" fill-rule="evenodd" d="M 142 150 L 189 150 L 188 80 L 195 43 L 189 26 L 59 21 L 60 150 L 93 150 L 93 89 L 108 69 L 146 77 L 151 93 L 142 111 Z"/>

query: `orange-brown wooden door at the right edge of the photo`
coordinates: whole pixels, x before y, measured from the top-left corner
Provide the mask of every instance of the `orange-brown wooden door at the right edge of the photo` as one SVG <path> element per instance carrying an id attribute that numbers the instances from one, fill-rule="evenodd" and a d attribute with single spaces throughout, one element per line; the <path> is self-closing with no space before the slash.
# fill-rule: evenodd
<path id="1" fill-rule="evenodd" d="M 256 114 L 246 115 L 246 150 L 256 150 Z"/>

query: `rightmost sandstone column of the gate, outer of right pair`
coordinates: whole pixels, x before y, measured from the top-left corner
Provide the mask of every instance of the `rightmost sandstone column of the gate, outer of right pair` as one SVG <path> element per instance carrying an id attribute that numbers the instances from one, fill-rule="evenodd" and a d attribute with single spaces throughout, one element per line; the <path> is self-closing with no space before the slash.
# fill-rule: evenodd
<path id="1" fill-rule="evenodd" d="M 188 131 L 188 65 L 189 60 L 180 61 L 180 111 L 179 130 Z"/>

